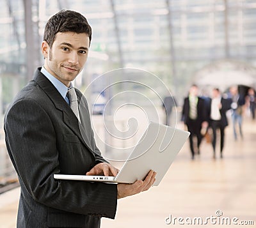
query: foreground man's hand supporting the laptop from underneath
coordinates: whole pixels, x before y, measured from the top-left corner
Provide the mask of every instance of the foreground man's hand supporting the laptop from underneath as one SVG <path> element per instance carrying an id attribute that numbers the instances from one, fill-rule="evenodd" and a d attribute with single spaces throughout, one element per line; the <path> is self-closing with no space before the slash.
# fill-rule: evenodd
<path id="1" fill-rule="evenodd" d="M 117 199 L 127 197 L 129 195 L 139 194 L 140 192 L 147 191 L 156 181 L 156 172 L 148 172 L 147 177 L 141 181 L 138 180 L 133 184 L 118 184 L 117 185 Z"/>

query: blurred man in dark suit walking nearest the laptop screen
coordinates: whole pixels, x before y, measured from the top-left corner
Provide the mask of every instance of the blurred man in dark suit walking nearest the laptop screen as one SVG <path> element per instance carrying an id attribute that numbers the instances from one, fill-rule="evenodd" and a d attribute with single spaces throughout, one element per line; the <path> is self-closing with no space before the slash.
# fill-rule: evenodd
<path id="1" fill-rule="evenodd" d="M 200 144 L 202 141 L 202 125 L 207 125 L 206 120 L 206 109 L 204 99 L 198 96 L 198 87 L 192 85 L 189 89 L 189 95 L 184 99 L 182 108 L 182 121 L 188 127 L 189 145 L 191 150 L 192 160 L 195 158 L 195 151 L 200 154 Z M 194 138 L 196 137 L 196 143 Z"/>

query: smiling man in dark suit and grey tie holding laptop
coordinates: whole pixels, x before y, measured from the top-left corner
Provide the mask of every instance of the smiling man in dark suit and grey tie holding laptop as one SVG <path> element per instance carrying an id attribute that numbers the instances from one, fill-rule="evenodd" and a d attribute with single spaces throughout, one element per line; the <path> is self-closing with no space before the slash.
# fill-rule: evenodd
<path id="1" fill-rule="evenodd" d="M 132 185 L 53 178 L 118 172 L 100 155 L 86 100 L 71 83 L 86 63 L 91 40 L 80 13 L 52 16 L 42 42 L 44 66 L 4 117 L 6 146 L 20 181 L 17 227 L 100 227 L 101 217 L 115 218 L 117 199 L 148 190 L 155 181 L 154 171 Z"/>

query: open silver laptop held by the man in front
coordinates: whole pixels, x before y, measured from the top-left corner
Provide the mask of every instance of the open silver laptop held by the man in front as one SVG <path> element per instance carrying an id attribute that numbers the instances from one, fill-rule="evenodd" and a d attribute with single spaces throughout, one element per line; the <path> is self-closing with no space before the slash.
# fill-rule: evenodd
<path id="1" fill-rule="evenodd" d="M 145 179 L 148 172 L 157 172 L 154 186 L 159 185 L 180 149 L 189 137 L 189 132 L 150 122 L 120 172 L 114 176 L 86 176 L 54 174 L 55 179 L 80 181 L 103 181 L 111 183 L 134 183 Z"/>

